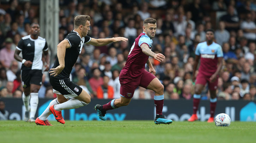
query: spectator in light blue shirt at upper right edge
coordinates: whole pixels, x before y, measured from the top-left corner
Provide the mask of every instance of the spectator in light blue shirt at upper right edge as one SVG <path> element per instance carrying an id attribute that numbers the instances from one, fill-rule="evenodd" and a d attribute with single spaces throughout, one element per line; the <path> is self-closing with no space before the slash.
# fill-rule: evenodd
<path id="1" fill-rule="evenodd" d="M 249 40 L 256 40 L 256 25 L 252 21 L 251 13 L 247 13 L 246 19 L 241 23 L 241 29 L 244 30 L 245 38 Z"/>

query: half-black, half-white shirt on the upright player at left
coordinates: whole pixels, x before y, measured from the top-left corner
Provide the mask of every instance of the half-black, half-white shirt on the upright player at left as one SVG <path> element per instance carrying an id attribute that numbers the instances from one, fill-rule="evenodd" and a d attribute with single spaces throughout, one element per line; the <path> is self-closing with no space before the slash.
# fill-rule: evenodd
<path id="1" fill-rule="evenodd" d="M 48 50 L 47 42 L 44 38 L 38 36 L 37 39 L 32 39 L 30 35 L 24 36 L 20 39 L 18 50 L 22 51 L 22 57 L 25 60 L 33 62 L 31 67 L 26 67 L 22 64 L 22 70 L 27 69 L 41 69 L 43 68 L 42 54 L 43 51 Z"/>

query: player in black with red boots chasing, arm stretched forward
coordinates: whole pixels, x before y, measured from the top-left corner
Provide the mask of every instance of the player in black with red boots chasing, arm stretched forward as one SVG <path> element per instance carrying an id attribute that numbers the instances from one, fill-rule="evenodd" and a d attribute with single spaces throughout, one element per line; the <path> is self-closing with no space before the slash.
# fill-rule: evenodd
<path id="1" fill-rule="evenodd" d="M 94 39 L 87 36 L 90 30 L 90 16 L 78 15 L 74 18 L 74 30 L 69 33 L 57 46 L 57 59 L 50 69 L 50 83 L 57 98 L 50 102 L 43 114 L 36 119 L 37 125 L 51 125 L 47 117 L 53 114 L 56 120 L 65 123 L 61 115 L 63 109 L 74 109 L 91 102 L 90 95 L 69 80 L 72 67 L 83 48 L 84 43 L 94 46 L 104 46 L 111 42 L 127 41 L 127 38 L 117 37 L 108 39 Z M 68 100 L 68 98 L 71 98 Z"/>

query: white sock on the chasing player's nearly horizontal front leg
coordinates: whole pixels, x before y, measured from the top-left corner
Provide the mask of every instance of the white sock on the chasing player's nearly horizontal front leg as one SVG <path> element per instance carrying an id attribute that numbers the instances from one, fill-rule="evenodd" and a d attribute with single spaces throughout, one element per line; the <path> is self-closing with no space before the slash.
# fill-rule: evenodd
<path id="1" fill-rule="evenodd" d="M 87 103 L 80 101 L 76 98 L 71 98 L 67 102 L 55 105 L 54 109 L 57 111 L 61 111 L 63 109 L 75 109 L 75 108 L 79 108 L 79 107 L 82 107 L 85 105 L 87 105 Z"/>

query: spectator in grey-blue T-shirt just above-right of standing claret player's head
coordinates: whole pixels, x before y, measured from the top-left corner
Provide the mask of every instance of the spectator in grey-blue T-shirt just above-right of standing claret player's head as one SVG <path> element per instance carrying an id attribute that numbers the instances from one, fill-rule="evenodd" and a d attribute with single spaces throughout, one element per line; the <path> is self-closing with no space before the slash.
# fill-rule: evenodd
<path id="1" fill-rule="evenodd" d="M 224 21 L 219 22 L 219 29 L 215 31 L 214 35 L 215 35 L 216 42 L 219 45 L 223 45 L 223 43 L 228 42 L 228 40 L 230 38 L 230 34 L 225 29 L 225 22 Z"/>

